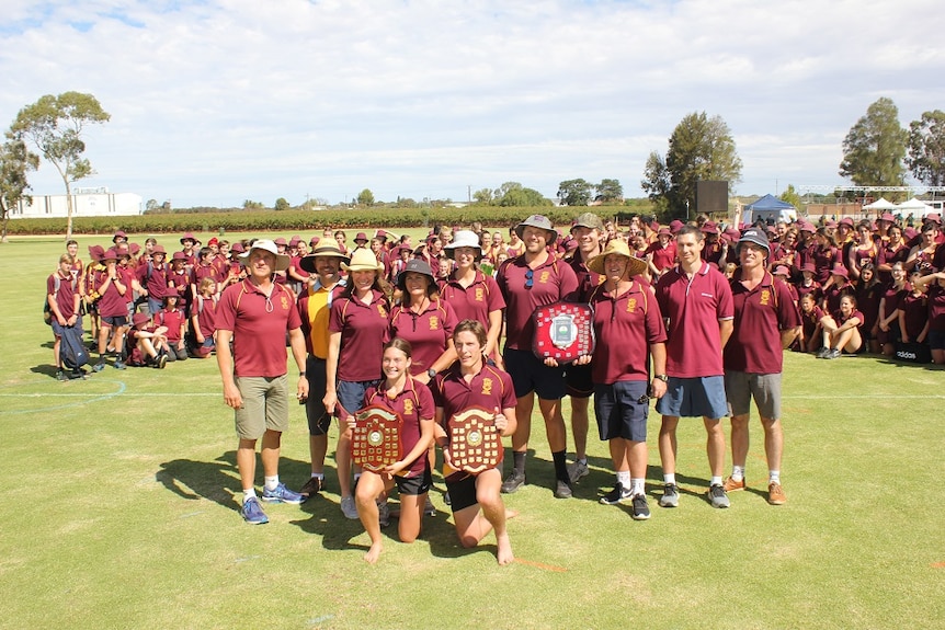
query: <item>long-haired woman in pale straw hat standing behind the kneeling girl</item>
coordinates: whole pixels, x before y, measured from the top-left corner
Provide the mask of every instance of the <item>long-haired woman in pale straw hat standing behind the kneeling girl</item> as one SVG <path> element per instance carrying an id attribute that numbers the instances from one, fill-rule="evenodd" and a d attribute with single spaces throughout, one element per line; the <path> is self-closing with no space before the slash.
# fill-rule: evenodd
<path id="1" fill-rule="evenodd" d="M 384 265 L 368 249 L 354 250 L 341 268 L 348 272 L 348 285 L 331 302 L 322 402 L 327 413 L 343 419 L 361 409 L 365 392 L 380 376 L 380 347 L 389 339 L 390 291 L 384 280 Z M 341 511 L 356 519 L 351 493 L 351 429 L 343 423 L 339 428 L 335 458 Z"/>

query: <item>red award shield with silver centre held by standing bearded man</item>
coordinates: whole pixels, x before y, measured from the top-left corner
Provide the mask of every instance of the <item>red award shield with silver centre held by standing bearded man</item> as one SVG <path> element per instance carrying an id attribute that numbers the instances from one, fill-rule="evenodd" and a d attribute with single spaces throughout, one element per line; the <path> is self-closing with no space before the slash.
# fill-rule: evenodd
<path id="1" fill-rule="evenodd" d="M 535 339 L 532 352 L 540 359 L 570 363 L 594 352 L 594 311 L 580 302 L 555 302 L 538 307 L 532 316 Z"/>

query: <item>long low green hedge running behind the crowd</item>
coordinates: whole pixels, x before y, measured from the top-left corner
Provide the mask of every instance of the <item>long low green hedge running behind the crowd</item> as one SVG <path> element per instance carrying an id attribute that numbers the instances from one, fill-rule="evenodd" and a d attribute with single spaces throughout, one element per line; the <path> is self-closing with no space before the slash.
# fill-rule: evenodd
<path id="1" fill-rule="evenodd" d="M 497 207 L 467 206 L 464 208 L 410 208 L 410 209 L 331 209 L 331 210 L 274 210 L 230 213 L 179 213 L 129 217 L 76 217 L 72 231 L 78 234 L 111 234 L 115 230 L 134 233 L 177 233 L 186 231 L 219 230 L 253 231 L 311 231 L 332 228 L 413 228 L 419 226 L 469 226 L 480 221 L 483 226 L 515 225 L 528 215 L 542 214 L 557 226 L 567 226 L 580 214 L 572 207 Z M 612 217 L 619 206 L 595 209 L 602 218 Z M 10 219 L 10 234 L 61 234 L 66 232 L 66 219 Z"/>

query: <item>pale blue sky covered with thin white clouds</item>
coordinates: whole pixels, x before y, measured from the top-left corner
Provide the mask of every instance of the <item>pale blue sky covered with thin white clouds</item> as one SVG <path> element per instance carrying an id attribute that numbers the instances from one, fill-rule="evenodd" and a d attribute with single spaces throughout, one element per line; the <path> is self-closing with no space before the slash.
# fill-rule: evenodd
<path id="1" fill-rule="evenodd" d="M 881 96 L 945 110 L 926 0 L 0 0 L 0 128 L 93 94 L 95 174 L 174 207 L 466 201 L 617 179 L 627 197 L 690 113 L 721 116 L 737 195 L 832 186 Z M 55 168 L 33 194 L 61 194 Z"/>

